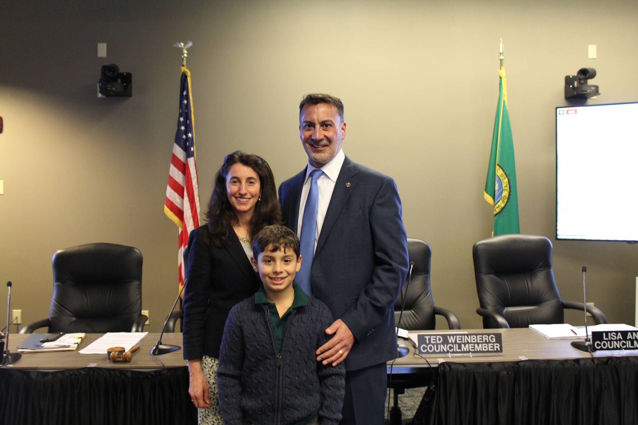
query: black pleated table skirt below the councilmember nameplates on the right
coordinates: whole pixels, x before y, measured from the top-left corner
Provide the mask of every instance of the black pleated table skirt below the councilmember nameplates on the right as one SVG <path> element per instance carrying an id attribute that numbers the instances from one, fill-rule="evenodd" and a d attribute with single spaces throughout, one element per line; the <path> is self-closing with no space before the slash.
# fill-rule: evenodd
<path id="1" fill-rule="evenodd" d="M 638 357 L 440 364 L 425 424 L 638 424 Z"/>

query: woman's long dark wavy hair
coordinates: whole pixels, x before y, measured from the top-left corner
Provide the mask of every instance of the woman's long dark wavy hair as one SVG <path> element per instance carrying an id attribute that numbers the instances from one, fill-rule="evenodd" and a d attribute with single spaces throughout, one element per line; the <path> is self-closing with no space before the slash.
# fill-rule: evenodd
<path id="1" fill-rule="evenodd" d="M 226 155 L 224 163 L 215 176 L 211 199 L 208 201 L 206 220 L 209 237 L 216 247 L 222 247 L 228 240 L 228 231 L 237 220 L 237 215 L 226 196 L 226 176 L 235 164 L 242 164 L 252 168 L 259 176 L 262 189 L 262 199 L 255 204 L 253 217 L 250 219 L 250 234 L 252 238 L 265 226 L 281 224 L 281 208 L 277 201 L 277 189 L 271 167 L 262 157 L 247 154 L 237 150 Z"/>

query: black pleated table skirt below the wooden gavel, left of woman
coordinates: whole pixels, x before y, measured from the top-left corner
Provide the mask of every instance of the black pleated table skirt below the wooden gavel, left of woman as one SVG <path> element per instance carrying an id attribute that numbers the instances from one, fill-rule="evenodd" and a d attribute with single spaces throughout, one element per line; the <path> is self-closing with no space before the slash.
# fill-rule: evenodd
<path id="1" fill-rule="evenodd" d="M 188 368 L 0 369 L 0 423 L 197 424 Z"/>

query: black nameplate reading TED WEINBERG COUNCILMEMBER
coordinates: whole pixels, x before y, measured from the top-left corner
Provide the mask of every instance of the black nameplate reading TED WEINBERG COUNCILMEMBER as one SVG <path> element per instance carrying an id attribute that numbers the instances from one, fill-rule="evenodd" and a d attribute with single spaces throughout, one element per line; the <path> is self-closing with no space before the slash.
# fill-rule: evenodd
<path id="1" fill-rule="evenodd" d="M 500 333 L 436 333 L 419 334 L 419 354 L 481 354 L 503 352 Z"/>

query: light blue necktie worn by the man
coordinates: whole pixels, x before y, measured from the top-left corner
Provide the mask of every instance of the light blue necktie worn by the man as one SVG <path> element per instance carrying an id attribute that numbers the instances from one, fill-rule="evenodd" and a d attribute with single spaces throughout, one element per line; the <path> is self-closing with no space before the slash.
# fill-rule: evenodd
<path id="1" fill-rule="evenodd" d="M 310 269 L 313 266 L 313 257 L 315 256 L 315 235 L 317 226 L 317 205 L 319 203 L 319 187 L 317 180 L 323 174 L 320 169 L 315 169 L 310 173 L 312 181 L 310 182 L 310 191 L 306 206 L 304 207 L 304 219 L 301 222 L 300 250 L 301 250 L 301 268 L 297 271 L 295 282 L 299 284 L 301 289 L 308 295 L 313 294 L 310 284 Z"/>

